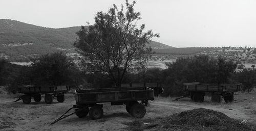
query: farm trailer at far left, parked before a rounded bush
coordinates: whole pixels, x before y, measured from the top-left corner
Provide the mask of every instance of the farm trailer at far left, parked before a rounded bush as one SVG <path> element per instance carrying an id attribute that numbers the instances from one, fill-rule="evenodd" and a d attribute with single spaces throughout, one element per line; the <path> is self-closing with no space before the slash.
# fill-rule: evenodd
<path id="1" fill-rule="evenodd" d="M 65 100 L 65 93 L 69 91 L 69 86 L 18 86 L 18 93 L 24 95 L 20 96 L 16 101 L 23 100 L 24 103 L 29 104 L 33 98 L 36 102 L 41 101 L 41 95 L 45 94 L 45 102 L 52 103 L 53 98 L 57 98 L 58 102 Z"/>

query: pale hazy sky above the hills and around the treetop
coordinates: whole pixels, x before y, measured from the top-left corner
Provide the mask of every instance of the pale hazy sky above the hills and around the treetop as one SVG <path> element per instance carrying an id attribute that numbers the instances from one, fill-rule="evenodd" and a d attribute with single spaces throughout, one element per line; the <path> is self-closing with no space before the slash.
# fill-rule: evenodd
<path id="1" fill-rule="evenodd" d="M 98 11 L 124 0 L 0 0 L 0 18 L 49 28 L 94 23 Z M 132 2 L 132 1 L 130 1 Z M 256 46 L 255 0 L 138 0 L 153 40 L 174 47 Z"/>

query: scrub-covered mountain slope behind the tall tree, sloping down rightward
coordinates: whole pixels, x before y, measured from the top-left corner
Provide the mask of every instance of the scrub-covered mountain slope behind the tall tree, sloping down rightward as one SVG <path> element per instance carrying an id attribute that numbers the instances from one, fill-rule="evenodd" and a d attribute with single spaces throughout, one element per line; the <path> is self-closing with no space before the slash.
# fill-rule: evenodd
<path id="1" fill-rule="evenodd" d="M 0 58 L 11 61 L 23 61 L 24 58 L 65 51 L 75 53 L 73 43 L 76 32 L 81 27 L 45 28 L 10 19 L 0 19 Z M 156 48 L 173 48 L 152 41 L 150 46 Z"/>

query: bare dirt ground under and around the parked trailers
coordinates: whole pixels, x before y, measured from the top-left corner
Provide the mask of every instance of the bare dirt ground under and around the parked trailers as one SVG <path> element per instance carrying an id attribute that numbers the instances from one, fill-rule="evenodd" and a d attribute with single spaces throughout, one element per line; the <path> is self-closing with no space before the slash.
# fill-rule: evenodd
<path id="1" fill-rule="evenodd" d="M 238 93 L 234 95 L 233 103 L 212 103 L 210 97 L 205 97 L 202 103 L 195 103 L 189 98 L 172 101 L 174 98 L 157 97 L 146 107 L 143 121 L 159 119 L 185 110 L 205 108 L 222 112 L 227 116 L 256 124 L 256 92 Z M 63 103 L 54 99 L 52 104 L 41 102 L 24 104 L 22 101 L 12 102 L 15 98 L 0 94 L 0 130 L 127 130 L 127 122 L 134 121 L 125 111 L 125 106 L 110 106 L 103 104 L 104 116 L 98 120 L 89 117 L 78 118 L 72 115 L 50 125 L 62 113 L 75 104 L 73 94 L 67 94 Z M 33 100 L 32 100 L 33 101 Z"/>

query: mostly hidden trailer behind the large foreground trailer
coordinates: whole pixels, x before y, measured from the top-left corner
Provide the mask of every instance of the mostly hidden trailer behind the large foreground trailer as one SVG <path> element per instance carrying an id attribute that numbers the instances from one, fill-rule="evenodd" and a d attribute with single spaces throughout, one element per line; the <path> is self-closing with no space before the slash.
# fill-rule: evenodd
<path id="1" fill-rule="evenodd" d="M 154 95 L 163 94 L 164 88 L 160 83 L 125 83 L 121 87 L 149 87 L 154 90 Z"/>

